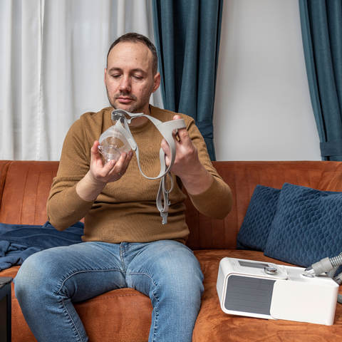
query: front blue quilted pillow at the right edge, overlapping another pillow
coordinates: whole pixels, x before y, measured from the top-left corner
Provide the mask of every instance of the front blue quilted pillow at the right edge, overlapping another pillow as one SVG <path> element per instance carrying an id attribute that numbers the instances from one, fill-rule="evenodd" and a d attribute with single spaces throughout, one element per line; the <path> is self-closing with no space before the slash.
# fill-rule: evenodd
<path id="1" fill-rule="evenodd" d="M 264 254 L 308 267 L 342 252 L 342 193 L 284 184 Z"/>

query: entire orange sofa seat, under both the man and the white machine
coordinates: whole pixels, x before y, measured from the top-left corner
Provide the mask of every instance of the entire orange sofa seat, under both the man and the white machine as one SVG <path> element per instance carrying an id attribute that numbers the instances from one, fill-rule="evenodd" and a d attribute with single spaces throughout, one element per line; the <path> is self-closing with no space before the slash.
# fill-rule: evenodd
<path id="1" fill-rule="evenodd" d="M 225 314 L 217 296 L 216 283 L 219 261 L 224 257 L 258 260 L 284 264 L 265 257 L 262 252 L 245 250 L 199 250 L 195 256 L 204 274 L 204 294 L 195 324 L 193 342 L 226 341 L 340 341 L 342 331 L 342 304 L 337 304 L 333 326 L 275 321 Z M 16 276 L 19 266 L 0 271 L 0 276 Z M 342 294 L 342 291 L 340 290 Z M 152 305 L 150 299 L 133 289 L 118 289 L 75 305 L 90 341 L 136 342 L 147 341 L 150 331 Z M 12 283 L 12 341 L 33 342 Z M 125 327 L 129 326 L 130 329 Z"/>

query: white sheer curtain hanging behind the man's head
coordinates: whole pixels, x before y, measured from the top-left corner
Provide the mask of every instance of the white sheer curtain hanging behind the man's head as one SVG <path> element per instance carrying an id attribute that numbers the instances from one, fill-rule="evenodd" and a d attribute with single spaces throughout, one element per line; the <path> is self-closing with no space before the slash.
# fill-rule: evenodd
<path id="1" fill-rule="evenodd" d="M 130 31 L 154 41 L 150 0 L 0 0 L 0 159 L 59 160 L 71 124 L 109 105 L 108 48 Z"/>

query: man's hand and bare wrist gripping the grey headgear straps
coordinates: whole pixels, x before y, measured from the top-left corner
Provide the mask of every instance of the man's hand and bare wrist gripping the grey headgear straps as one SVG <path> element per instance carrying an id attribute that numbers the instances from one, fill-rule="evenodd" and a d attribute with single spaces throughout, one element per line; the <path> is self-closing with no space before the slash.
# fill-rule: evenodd
<path id="1" fill-rule="evenodd" d="M 180 115 L 175 115 L 173 120 L 180 119 Z M 197 147 L 190 139 L 186 128 L 177 130 L 173 133 L 176 145 L 175 162 L 171 172 L 180 177 L 183 185 L 191 195 L 197 195 L 207 190 L 212 182 L 212 175 L 207 172 L 199 161 Z M 166 165 L 170 165 L 171 150 L 165 139 L 161 143 L 162 150 L 165 152 Z"/>

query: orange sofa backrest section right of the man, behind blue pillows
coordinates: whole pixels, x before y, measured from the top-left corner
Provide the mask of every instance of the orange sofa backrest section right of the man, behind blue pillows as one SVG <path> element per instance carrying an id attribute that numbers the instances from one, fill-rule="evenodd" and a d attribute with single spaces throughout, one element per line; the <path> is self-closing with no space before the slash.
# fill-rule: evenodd
<path id="1" fill-rule="evenodd" d="M 342 192 L 342 162 L 232 161 L 213 162 L 232 190 L 233 206 L 224 220 L 209 219 L 187 199 L 187 224 L 191 249 L 236 249 L 237 233 L 257 185 L 281 189 L 287 182 L 318 190 Z"/>

